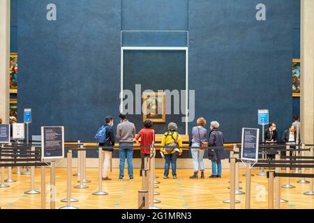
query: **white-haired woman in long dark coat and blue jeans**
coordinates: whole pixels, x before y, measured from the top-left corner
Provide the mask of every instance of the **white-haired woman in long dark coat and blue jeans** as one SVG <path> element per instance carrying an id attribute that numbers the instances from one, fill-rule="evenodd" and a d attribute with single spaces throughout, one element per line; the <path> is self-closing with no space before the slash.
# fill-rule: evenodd
<path id="1" fill-rule="evenodd" d="M 209 133 L 209 146 L 220 147 L 217 149 L 209 149 L 208 157 L 211 160 L 211 176 L 209 178 L 221 178 L 222 165 L 221 160 L 225 159 L 225 151 L 223 149 L 223 132 L 220 132 L 219 123 L 211 122 L 211 132 Z"/>

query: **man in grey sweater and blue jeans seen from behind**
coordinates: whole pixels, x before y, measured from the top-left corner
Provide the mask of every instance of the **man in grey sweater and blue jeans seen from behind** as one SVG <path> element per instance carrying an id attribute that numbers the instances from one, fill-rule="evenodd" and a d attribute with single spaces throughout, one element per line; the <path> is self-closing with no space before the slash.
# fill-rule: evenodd
<path id="1" fill-rule="evenodd" d="M 119 139 L 119 180 L 124 178 L 124 163 L 128 162 L 128 176 L 133 180 L 133 139 L 135 137 L 135 125 L 126 119 L 126 114 L 119 115 L 120 122 L 117 125 L 117 139 Z"/>

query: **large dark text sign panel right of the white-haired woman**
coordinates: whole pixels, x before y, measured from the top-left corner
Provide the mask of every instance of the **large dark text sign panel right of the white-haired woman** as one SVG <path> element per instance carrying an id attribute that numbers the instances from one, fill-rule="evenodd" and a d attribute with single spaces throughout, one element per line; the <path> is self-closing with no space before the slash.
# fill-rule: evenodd
<path id="1" fill-rule="evenodd" d="M 258 128 L 242 128 L 241 160 L 256 162 L 258 160 Z"/>

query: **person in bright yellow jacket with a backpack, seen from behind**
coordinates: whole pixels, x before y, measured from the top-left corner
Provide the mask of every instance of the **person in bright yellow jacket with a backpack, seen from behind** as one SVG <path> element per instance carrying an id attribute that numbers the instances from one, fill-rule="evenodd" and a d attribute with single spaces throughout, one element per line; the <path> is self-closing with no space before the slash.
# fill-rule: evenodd
<path id="1" fill-rule="evenodd" d="M 165 173 L 163 178 L 169 178 L 170 163 L 172 168 L 172 177 L 177 179 L 177 157 L 182 154 L 182 148 L 176 148 L 182 146 L 182 139 L 180 134 L 177 132 L 178 127 L 176 123 L 169 123 L 168 130 L 163 134 L 161 139 L 160 152 L 165 155 Z"/>

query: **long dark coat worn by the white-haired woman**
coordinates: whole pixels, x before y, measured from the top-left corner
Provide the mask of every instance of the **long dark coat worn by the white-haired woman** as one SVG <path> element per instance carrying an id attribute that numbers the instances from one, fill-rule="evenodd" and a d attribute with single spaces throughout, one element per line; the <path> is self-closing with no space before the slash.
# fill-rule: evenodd
<path id="1" fill-rule="evenodd" d="M 223 132 L 219 130 L 212 130 L 209 133 L 209 146 L 221 147 L 214 150 L 214 152 L 209 148 L 208 158 L 209 160 L 224 160 L 225 159 L 225 150 L 223 149 Z"/>

